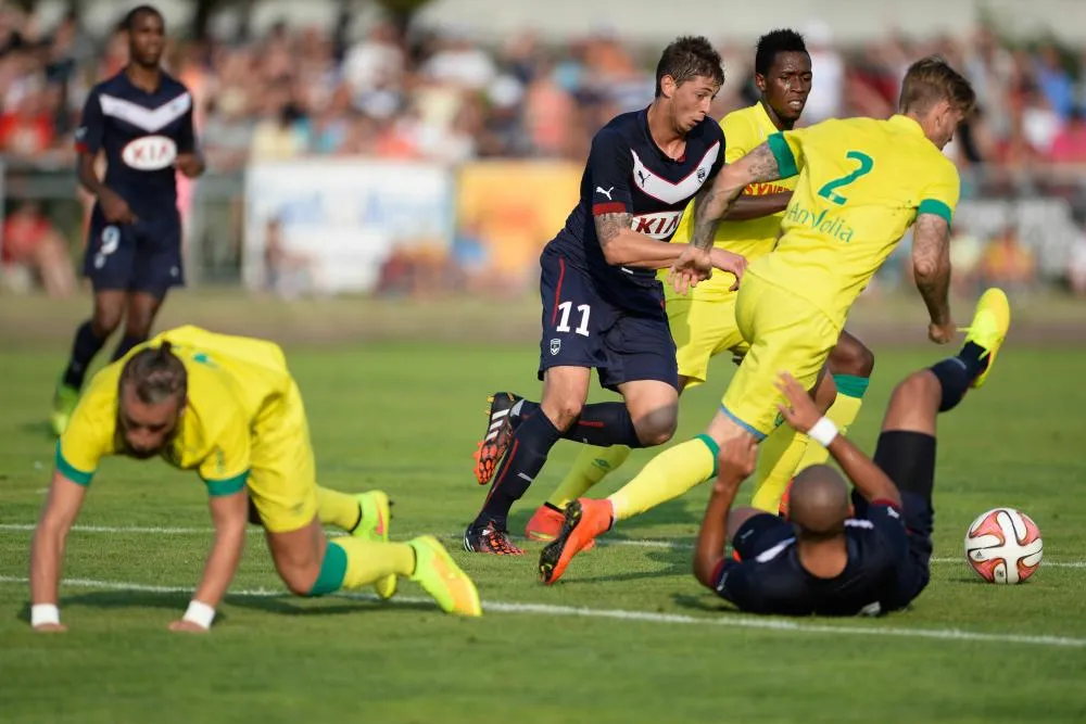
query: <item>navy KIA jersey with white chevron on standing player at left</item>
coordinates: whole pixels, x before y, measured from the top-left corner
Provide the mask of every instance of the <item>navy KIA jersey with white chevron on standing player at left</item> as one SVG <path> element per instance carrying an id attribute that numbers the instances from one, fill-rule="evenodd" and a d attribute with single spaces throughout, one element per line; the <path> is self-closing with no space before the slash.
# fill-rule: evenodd
<path id="1" fill-rule="evenodd" d="M 160 77 L 153 93 L 136 87 L 124 71 L 98 84 L 76 130 L 76 148 L 105 152 L 105 186 L 142 218 L 177 208 L 174 161 L 195 149 L 192 96 L 169 75 Z"/>

